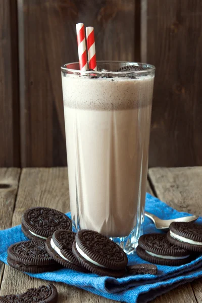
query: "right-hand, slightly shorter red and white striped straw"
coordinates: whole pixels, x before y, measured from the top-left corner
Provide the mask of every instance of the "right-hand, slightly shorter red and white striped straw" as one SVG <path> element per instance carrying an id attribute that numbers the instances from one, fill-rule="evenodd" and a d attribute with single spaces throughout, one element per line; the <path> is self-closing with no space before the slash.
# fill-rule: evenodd
<path id="1" fill-rule="evenodd" d="M 92 26 L 86 27 L 86 39 L 87 39 L 89 68 L 96 71 L 97 63 L 96 63 L 96 54 L 95 54 L 95 39 L 94 39 L 94 28 Z"/>

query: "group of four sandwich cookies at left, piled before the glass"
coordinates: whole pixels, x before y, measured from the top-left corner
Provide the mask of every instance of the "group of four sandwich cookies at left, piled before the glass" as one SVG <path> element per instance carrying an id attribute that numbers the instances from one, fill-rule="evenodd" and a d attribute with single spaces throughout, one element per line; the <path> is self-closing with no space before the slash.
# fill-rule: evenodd
<path id="1" fill-rule="evenodd" d="M 8 248 L 8 264 L 30 273 L 66 267 L 101 276 L 124 276 L 128 258 L 121 247 L 98 232 L 74 233 L 71 229 L 71 220 L 57 210 L 28 209 L 22 217 L 22 231 L 30 241 Z"/>

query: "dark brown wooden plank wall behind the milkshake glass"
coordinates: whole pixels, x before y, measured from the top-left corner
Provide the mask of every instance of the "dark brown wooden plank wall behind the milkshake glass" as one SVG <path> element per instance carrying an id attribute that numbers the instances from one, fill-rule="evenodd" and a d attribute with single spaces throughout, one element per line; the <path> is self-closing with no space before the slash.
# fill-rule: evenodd
<path id="1" fill-rule="evenodd" d="M 149 166 L 202 165 L 201 0 L 1 0 L 0 166 L 64 166 L 60 66 L 77 61 L 75 24 L 98 60 L 157 68 Z"/>

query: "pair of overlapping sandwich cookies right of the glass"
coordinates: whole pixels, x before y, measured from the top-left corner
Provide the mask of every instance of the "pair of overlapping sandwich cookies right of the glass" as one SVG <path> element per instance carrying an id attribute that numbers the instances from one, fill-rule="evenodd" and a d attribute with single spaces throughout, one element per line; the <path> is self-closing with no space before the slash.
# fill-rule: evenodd
<path id="1" fill-rule="evenodd" d="M 168 266 L 190 262 L 202 252 L 202 225 L 172 222 L 167 234 L 145 234 L 139 238 L 137 255 L 145 261 Z"/>

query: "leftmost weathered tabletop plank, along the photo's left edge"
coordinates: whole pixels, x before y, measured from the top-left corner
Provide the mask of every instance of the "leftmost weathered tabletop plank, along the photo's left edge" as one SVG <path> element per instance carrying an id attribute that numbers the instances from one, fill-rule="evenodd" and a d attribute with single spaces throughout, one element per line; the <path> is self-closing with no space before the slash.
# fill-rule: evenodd
<path id="1" fill-rule="evenodd" d="M 19 177 L 19 168 L 0 168 L 0 229 L 11 227 Z M 0 287 L 3 274 L 4 264 L 0 262 Z"/>

